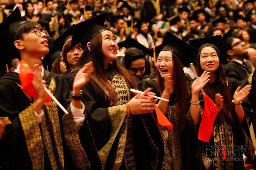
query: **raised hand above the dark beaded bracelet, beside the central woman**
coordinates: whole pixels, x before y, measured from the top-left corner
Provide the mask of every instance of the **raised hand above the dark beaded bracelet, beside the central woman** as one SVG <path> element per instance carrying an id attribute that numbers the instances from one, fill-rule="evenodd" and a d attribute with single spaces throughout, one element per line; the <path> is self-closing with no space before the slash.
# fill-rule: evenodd
<path id="1" fill-rule="evenodd" d="M 74 83 L 73 83 L 73 91 L 74 94 L 79 94 L 80 89 L 90 80 L 90 76 L 94 71 L 93 62 L 89 62 L 83 66 L 76 74 Z M 75 93 L 78 92 L 78 93 Z"/>

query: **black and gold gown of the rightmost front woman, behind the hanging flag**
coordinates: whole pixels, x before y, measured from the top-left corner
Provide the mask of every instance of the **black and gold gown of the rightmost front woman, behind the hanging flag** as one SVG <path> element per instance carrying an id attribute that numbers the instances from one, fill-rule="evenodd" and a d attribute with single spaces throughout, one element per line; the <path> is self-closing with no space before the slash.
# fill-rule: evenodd
<path id="1" fill-rule="evenodd" d="M 240 82 L 228 77 L 226 79 L 230 95 L 233 96 L 236 88 L 240 86 Z M 215 89 L 217 94 L 218 87 L 216 82 L 213 82 L 210 86 L 212 89 Z M 204 97 L 201 92 L 199 93 L 199 100 L 200 116 L 202 117 L 204 108 Z M 234 124 L 229 124 L 225 119 L 223 119 L 223 123 L 215 120 L 213 134 L 211 135 L 209 143 L 203 141 L 200 141 L 200 143 L 198 143 L 198 150 L 195 156 L 197 158 L 197 163 L 200 169 L 243 170 L 244 161 L 242 153 L 244 153 L 244 155 L 247 156 L 249 159 L 254 160 L 254 147 L 250 139 L 248 125 L 250 124 L 249 117 L 251 115 L 251 108 L 248 102 L 249 101 L 247 98 L 242 103 L 245 113 L 245 119 L 242 124 L 239 122 L 237 114 L 233 112 L 231 114 L 235 121 Z M 188 121 L 189 127 L 197 136 L 201 119 L 198 125 L 194 125 L 190 109 L 188 111 L 188 114 L 186 115 L 186 119 Z M 222 156 L 222 142 L 224 142 L 225 146 L 225 160 L 223 160 Z M 215 151 L 217 151 L 217 153 L 215 153 Z M 231 153 L 234 153 L 233 157 L 231 157 Z"/>

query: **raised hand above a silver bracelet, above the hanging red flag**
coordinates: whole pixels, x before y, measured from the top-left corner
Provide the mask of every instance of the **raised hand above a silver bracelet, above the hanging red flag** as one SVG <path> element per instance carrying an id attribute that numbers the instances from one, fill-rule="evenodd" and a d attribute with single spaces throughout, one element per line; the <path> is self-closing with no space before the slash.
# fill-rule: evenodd
<path id="1" fill-rule="evenodd" d="M 199 91 L 210 81 L 210 72 L 204 71 L 201 77 L 198 77 L 191 85 L 192 93 L 199 93 Z"/>

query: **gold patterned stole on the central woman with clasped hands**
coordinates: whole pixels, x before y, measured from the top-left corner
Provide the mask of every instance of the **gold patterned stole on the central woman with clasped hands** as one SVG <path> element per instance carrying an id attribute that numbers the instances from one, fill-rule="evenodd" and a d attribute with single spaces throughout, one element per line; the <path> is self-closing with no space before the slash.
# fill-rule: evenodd
<path id="1" fill-rule="evenodd" d="M 113 80 L 110 82 L 111 86 L 115 89 L 117 95 L 116 105 L 109 107 L 109 118 L 111 121 L 111 133 L 108 143 L 98 151 L 103 169 L 105 169 L 107 157 L 110 148 L 113 145 L 115 138 L 121 128 L 119 136 L 119 142 L 116 152 L 116 158 L 114 163 L 114 169 L 120 169 L 123 158 L 126 164 L 126 168 L 135 170 L 135 161 L 133 154 L 133 137 L 132 137 L 132 117 L 126 116 L 125 103 L 130 100 L 129 88 L 123 76 L 116 74 Z M 108 94 L 108 92 L 107 92 Z M 108 95 L 109 97 L 109 95 Z M 113 100 L 111 101 L 111 103 Z"/>

